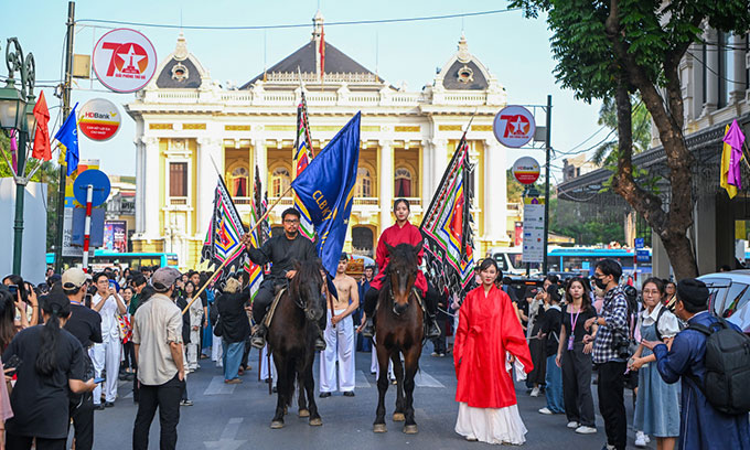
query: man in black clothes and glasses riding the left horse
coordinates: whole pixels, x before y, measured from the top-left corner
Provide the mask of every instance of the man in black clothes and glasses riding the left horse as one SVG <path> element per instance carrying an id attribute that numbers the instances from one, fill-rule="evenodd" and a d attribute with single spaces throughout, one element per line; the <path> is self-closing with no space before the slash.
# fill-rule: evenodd
<path id="1" fill-rule="evenodd" d="M 250 345 L 256 349 L 266 346 L 266 334 L 268 330 L 264 324 L 266 310 L 271 304 L 276 296 L 276 289 L 287 286 L 289 280 L 294 278 L 294 262 L 312 261 L 318 258 L 315 246 L 310 239 L 299 233 L 300 213 L 293 207 L 287 208 L 281 214 L 283 225 L 282 234 L 274 234 L 260 248 L 250 245 L 250 236 L 243 236 L 243 244 L 247 248 L 250 260 L 259 266 L 271 264 L 271 272 L 267 275 L 253 301 L 253 320 L 256 329 L 250 338 Z M 325 350 L 323 330 L 325 329 L 325 315 L 318 323 L 318 338 L 315 339 L 315 350 Z"/>

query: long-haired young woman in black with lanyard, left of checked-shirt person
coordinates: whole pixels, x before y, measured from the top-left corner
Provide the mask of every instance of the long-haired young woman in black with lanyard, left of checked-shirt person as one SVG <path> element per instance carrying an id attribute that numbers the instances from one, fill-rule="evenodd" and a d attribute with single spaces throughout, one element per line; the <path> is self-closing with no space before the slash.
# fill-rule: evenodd
<path id="1" fill-rule="evenodd" d="M 597 432 L 591 395 L 591 352 L 598 325 L 587 332 L 586 321 L 597 317 L 588 281 L 574 278 L 568 283 L 568 304 L 562 312 L 560 343 L 555 363 L 562 368 L 562 397 L 568 428 L 580 435 Z"/>

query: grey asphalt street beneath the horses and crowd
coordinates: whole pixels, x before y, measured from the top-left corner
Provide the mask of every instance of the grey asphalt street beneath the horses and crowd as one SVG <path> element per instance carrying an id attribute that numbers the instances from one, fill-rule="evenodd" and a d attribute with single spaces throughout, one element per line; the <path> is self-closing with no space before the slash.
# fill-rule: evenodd
<path id="1" fill-rule="evenodd" d="M 276 407 L 276 395 L 268 395 L 268 385 L 258 381 L 258 352 L 250 354 L 251 369 L 244 383 L 225 385 L 222 369 L 211 360 L 201 360 L 201 368 L 189 375 L 189 396 L 193 406 L 182 407 L 178 428 L 178 448 L 185 450 L 235 449 L 476 449 L 489 444 L 468 442 L 453 431 L 458 404 L 454 401 L 456 375 L 452 357 L 430 356 L 431 344 L 426 344 L 420 361 L 421 373 L 415 389 L 418 435 L 401 432 L 401 424 L 389 420 L 395 403 L 395 389 L 387 394 L 387 433 L 374 433 L 372 424 L 377 405 L 375 375 L 369 373 L 369 353 L 356 354 L 355 397 L 334 393 L 329 398 L 315 398 L 323 419 L 322 427 L 311 427 L 307 419 L 297 417 L 292 407 L 286 427 L 270 429 Z M 318 379 L 318 362 L 314 373 Z M 318 383 L 315 383 L 318 386 Z M 137 405 L 132 401 L 132 383 L 120 382 L 115 407 L 96 411 L 95 449 L 129 448 Z M 516 383 L 518 408 L 528 429 L 525 449 L 599 450 L 604 442 L 604 427 L 597 415 L 598 432 L 581 436 L 566 428 L 564 415 L 543 416 L 538 409 L 546 405 L 544 396 L 531 398 L 523 383 Z M 596 386 L 593 386 L 596 401 Z M 629 449 L 633 446 L 632 395 L 626 390 Z M 596 405 L 594 405 L 596 406 Z M 151 426 L 150 448 L 159 448 L 159 419 Z M 652 440 L 650 448 L 655 448 Z"/>

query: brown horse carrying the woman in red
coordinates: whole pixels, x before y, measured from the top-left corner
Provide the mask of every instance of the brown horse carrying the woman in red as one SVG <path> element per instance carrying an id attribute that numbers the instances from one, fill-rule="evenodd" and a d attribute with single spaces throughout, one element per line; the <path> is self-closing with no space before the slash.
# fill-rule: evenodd
<path id="1" fill-rule="evenodd" d="M 395 248 L 386 244 L 390 261 L 386 268 L 384 285 L 375 313 L 375 336 L 377 340 L 377 362 L 381 376 L 377 378 L 377 410 L 373 431 L 386 432 L 385 393 L 388 390 L 388 360 L 394 363 L 396 374 L 396 410 L 394 421 L 405 421 L 404 432 L 417 432 L 414 420 L 414 376 L 419 368 L 422 339 L 422 309 L 420 308 L 414 283 L 417 280 L 418 255 L 422 243 L 416 247 L 399 244 Z M 405 367 L 400 355 L 404 355 Z"/>

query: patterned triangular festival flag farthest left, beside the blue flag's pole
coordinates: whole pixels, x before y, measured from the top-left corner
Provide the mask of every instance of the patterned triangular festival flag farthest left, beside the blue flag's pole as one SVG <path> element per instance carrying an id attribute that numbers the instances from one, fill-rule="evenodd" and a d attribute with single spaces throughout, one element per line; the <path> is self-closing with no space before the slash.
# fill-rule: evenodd
<path id="1" fill-rule="evenodd" d="M 217 281 L 225 281 L 235 276 L 245 267 L 248 255 L 244 250 L 239 238 L 245 234 L 245 228 L 239 219 L 237 208 L 229 196 L 224 180 L 218 179 L 214 195 L 214 214 L 208 224 L 206 238 L 201 249 L 201 261 L 207 260 L 215 267 L 226 262 L 218 275 Z"/>

